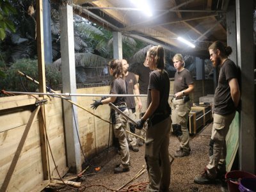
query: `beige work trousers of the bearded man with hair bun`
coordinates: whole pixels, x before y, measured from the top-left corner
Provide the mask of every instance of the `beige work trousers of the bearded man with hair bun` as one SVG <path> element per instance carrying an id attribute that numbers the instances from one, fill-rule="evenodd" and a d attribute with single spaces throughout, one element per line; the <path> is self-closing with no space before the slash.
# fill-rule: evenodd
<path id="1" fill-rule="evenodd" d="M 209 164 L 207 164 L 207 170 L 209 176 L 216 178 L 216 171 L 218 165 L 225 166 L 225 159 L 227 156 L 226 136 L 229 130 L 229 126 L 234 119 L 236 112 L 229 115 L 213 114 L 213 125 L 211 140 L 213 144 L 213 155 L 209 157 Z"/>

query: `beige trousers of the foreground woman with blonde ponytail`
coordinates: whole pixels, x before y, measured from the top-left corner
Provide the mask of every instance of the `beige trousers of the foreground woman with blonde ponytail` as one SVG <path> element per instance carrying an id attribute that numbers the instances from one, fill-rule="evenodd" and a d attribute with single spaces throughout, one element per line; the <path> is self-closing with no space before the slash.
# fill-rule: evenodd
<path id="1" fill-rule="evenodd" d="M 171 118 L 168 117 L 156 125 L 148 125 L 145 141 L 145 160 L 149 179 L 146 191 L 148 192 L 169 191 L 171 166 L 168 147 L 171 124 Z"/>

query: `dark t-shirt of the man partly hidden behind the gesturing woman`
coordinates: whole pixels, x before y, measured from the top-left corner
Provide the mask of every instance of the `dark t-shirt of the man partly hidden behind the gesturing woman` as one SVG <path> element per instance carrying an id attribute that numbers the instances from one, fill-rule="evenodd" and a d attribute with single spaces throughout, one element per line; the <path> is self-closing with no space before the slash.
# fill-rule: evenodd
<path id="1" fill-rule="evenodd" d="M 133 95 L 134 85 L 137 84 L 137 80 L 134 73 L 128 72 L 128 75 L 125 76 L 125 81 L 127 84 L 127 94 Z M 129 109 L 135 108 L 136 104 L 135 104 L 134 97 L 126 97 L 126 104 L 127 104 L 127 108 Z"/>

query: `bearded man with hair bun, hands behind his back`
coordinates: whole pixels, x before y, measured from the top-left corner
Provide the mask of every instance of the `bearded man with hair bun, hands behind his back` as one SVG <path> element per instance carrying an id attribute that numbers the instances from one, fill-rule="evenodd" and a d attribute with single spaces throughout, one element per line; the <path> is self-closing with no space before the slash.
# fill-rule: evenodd
<path id="1" fill-rule="evenodd" d="M 209 144 L 209 163 L 202 175 L 196 176 L 197 184 L 211 184 L 216 179 L 223 179 L 226 173 L 226 135 L 229 125 L 236 115 L 240 101 L 238 71 L 236 64 L 228 59 L 232 48 L 225 47 L 220 41 L 209 47 L 213 67 L 220 68 L 218 86 L 214 94 L 213 125 Z"/>

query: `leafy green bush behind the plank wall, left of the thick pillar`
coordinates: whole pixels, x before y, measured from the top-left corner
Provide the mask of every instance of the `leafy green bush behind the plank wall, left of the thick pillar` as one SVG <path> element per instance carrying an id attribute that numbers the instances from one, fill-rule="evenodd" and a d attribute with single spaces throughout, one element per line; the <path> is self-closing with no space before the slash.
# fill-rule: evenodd
<path id="1" fill-rule="evenodd" d="M 17 60 L 15 63 L 12 63 L 10 68 L 6 68 L 4 70 L 6 78 L 0 79 L 1 90 L 36 92 L 36 90 L 38 90 L 38 84 L 27 80 L 25 77 L 21 77 L 19 74 L 17 74 L 18 70 L 38 81 L 37 60 L 21 59 Z M 58 84 L 61 83 L 61 74 L 57 68 L 52 65 L 45 65 L 45 78 L 47 86 L 50 86 L 52 89 L 56 88 Z"/>

